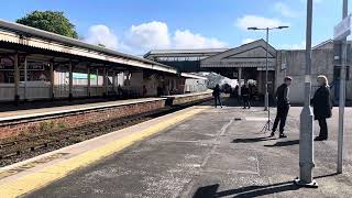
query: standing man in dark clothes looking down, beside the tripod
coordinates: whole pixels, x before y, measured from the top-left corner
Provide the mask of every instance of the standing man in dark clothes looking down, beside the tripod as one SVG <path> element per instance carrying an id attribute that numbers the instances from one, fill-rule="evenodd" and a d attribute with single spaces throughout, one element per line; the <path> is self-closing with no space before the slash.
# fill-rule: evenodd
<path id="1" fill-rule="evenodd" d="M 288 114 L 289 110 L 289 99 L 288 99 L 288 94 L 289 94 L 289 86 L 293 81 L 292 77 L 286 76 L 284 79 L 284 84 L 280 85 L 277 90 L 276 90 L 276 101 L 277 101 L 277 113 L 275 118 L 275 122 L 273 125 L 272 134 L 271 136 L 275 135 L 275 131 L 277 129 L 278 122 L 279 122 L 279 138 L 287 138 L 286 134 L 284 133 L 285 130 L 285 124 L 286 124 L 286 118 Z"/>

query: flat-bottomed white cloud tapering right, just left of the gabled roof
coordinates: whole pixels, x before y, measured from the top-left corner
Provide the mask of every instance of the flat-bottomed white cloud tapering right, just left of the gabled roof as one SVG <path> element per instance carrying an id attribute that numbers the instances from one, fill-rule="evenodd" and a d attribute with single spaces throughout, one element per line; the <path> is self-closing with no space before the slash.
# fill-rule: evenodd
<path id="1" fill-rule="evenodd" d="M 200 34 L 194 34 L 189 30 L 175 32 L 173 37 L 174 48 L 219 48 L 228 44 L 215 37 L 205 37 Z"/>

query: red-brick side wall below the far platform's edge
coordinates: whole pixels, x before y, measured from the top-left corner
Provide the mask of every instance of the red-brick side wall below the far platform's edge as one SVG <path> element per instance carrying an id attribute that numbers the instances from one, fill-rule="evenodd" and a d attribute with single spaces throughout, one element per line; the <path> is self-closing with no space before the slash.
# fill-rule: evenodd
<path id="1" fill-rule="evenodd" d="M 123 118 L 138 113 L 143 113 L 165 107 L 165 100 L 156 100 L 144 103 L 133 103 L 127 106 L 118 106 L 106 109 L 85 111 L 84 113 L 72 113 L 66 116 L 57 116 L 54 118 L 42 118 L 21 120 L 11 123 L 2 123 L 0 125 L 0 140 L 16 136 L 25 133 L 36 133 L 51 129 L 72 129 L 87 123 L 98 123 L 107 120 Z"/>

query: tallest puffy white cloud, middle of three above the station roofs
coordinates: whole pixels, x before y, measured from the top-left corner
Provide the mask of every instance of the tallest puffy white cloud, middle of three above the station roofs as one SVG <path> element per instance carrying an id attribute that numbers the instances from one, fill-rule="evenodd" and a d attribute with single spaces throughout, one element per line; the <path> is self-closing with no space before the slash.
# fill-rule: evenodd
<path id="1" fill-rule="evenodd" d="M 133 48 L 167 48 L 170 45 L 167 24 L 153 21 L 132 25 L 125 43 Z"/>

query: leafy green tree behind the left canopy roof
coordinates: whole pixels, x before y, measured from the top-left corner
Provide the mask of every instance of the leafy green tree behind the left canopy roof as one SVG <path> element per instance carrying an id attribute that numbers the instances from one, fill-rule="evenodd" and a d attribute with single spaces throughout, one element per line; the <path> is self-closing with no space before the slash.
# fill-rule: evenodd
<path id="1" fill-rule="evenodd" d="M 64 36 L 78 38 L 75 25 L 64 15 L 64 12 L 34 11 L 18 19 L 16 23 L 53 32 Z"/>

